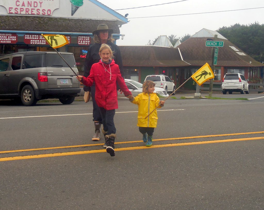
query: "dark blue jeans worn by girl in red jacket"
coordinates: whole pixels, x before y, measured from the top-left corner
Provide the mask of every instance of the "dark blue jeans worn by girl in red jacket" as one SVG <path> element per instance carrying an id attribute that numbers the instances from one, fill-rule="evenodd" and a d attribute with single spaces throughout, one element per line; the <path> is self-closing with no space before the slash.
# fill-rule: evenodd
<path id="1" fill-rule="evenodd" d="M 115 109 L 105 110 L 103 107 L 99 107 L 102 122 L 103 122 L 103 130 L 107 132 L 107 135 L 115 134 L 116 128 L 114 124 L 114 116 L 115 116 Z"/>

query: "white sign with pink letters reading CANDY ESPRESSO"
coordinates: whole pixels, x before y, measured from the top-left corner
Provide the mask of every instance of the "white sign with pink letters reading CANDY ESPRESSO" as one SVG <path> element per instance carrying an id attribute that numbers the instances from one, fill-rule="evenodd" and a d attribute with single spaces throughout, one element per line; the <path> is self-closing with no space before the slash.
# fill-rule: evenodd
<path id="1" fill-rule="evenodd" d="M 59 0 L 1 0 L 0 5 L 7 9 L 9 14 L 49 15 L 59 8 Z"/>

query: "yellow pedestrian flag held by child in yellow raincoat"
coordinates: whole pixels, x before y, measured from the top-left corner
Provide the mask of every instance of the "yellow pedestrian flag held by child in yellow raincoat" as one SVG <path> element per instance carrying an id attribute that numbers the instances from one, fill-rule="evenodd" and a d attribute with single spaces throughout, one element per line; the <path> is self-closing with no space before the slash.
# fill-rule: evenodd
<path id="1" fill-rule="evenodd" d="M 198 85 L 203 84 L 205 81 L 214 78 L 214 73 L 210 68 L 209 64 L 204 64 L 200 69 L 198 69 L 191 78 L 196 81 Z"/>

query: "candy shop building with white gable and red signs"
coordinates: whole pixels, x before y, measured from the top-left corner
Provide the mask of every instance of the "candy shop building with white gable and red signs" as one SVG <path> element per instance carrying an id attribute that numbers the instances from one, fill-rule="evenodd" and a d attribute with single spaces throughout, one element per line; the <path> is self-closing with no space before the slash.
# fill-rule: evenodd
<path id="1" fill-rule="evenodd" d="M 1 0 L 0 56 L 23 51 L 53 51 L 41 34 L 62 34 L 68 45 L 60 52 L 74 53 L 83 74 L 84 60 L 93 44 L 92 32 L 105 23 L 120 39 L 119 28 L 127 18 L 96 0 Z"/>

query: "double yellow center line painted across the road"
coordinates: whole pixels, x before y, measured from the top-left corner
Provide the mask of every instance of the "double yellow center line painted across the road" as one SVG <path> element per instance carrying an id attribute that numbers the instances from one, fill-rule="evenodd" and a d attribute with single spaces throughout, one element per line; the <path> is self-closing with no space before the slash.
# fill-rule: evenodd
<path id="1" fill-rule="evenodd" d="M 190 137 L 178 137 L 178 138 L 169 138 L 169 139 L 154 139 L 153 141 L 196 139 L 196 138 L 263 134 L 263 133 L 264 133 L 264 131 L 258 131 L 258 132 L 247 132 L 247 133 L 219 134 L 219 135 L 206 135 L 206 136 L 190 136 Z M 249 140 L 260 140 L 260 139 L 264 139 L 264 137 L 250 137 L 250 138 L 240 138 L 240 139 L 224 139 L 224 140 L 186 142 L 186 143 L 175 143 L 175 144 L 161 144 L 161 145 L 153 145 L 151 147 L 146 147 L 146 146 L 122 147 L 122 148 L 116 148 L 115 151 L 152 149 L 152 148 L 161 148 L 161 147 L 199 145 L 199 144 L 211 144 L 211 143 L 233 142 L 233 141 L 249 141 Z M 116 144 L 137 143 L 137 142 L 142 142 L 142 141 L 116 142 L 115 145 Z M 61 147 L 33 148 L 33 149 L 23 149 L 23 150 L 9 150 L 9 151 L 0 151 L 0 153 L 25 152 L 25 151 L 37 151 L 37 150 L 40 151 L 40 150 L 74 148 L 74 147 L 84 147 L 84 146 L 87 147 L 87 146 L 98 146 L 98 145 L 103 145 L 103 144 L 87 144 L 87 145 L 73 145 L 73 146 L 61 146 Z M 40 155 L 3 157 L 3 158 L 0 158 L 0 161 L 23 160 L 23 159 L 32 159 L 32 158 L 41 158 L 41 157 L 56 157 L 56 156 L 67 156 L 67 155 L 80 155 L 80 154 L 90 154 L 90 153 L 100 153 L 100 152 L 106 152 L 106 150 L 100 149 L 100 150 L 86 150 L 86 151 L 76 151 L 76 152 L 49 153 L 49 154 L 40 154 Z"/>

